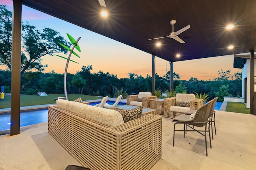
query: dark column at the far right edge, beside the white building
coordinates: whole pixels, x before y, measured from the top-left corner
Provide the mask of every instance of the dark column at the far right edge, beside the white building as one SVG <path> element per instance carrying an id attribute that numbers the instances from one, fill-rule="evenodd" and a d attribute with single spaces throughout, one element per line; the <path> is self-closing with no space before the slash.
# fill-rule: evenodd
<path id="1" fill-rule="evenodd" d="M 256 96 L 254 92 L 254 51 L 250 51 L 250 114 L 256 115 Z"/>

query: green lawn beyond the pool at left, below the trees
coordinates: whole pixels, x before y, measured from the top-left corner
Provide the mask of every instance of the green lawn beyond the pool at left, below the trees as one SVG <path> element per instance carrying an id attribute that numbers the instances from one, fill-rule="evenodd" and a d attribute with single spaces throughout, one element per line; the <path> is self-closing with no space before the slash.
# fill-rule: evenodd
<path id="1" fill-rule="evenodd" d="M 20 96 L 20 106 L 35 106 L 42 104 L 55 104 L 56 100 L 54 98 L 64 97 L 64 94 L 48 94 L 48 96 L 39 96 L 38 94 L 33 95 L 21 95 Z M 76 100 L 77 98 L 82 100 L 95 100 L 102 99 L 96 96 L 89 96 L 84 94 L 68 94 L 68 100 Z M 11 106 L 11 96 L 4 96 L 5 100 L 0 100 L 0 109 L 10 108 Z"/>

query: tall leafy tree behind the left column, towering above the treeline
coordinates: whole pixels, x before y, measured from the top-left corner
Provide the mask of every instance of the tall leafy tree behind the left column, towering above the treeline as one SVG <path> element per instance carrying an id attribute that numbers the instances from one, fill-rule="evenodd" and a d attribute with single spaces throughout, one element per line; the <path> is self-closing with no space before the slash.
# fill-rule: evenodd
<path id="1" fill-rule="evenodd" d="M 0 5 L 0 64 L 6 65 L 11 70 L 11 46 L 12 46 L 12 12 Z M 41 64 L 43 56 L 54 53 L 66 53 L 64 47 L 58 42 L 67 44 L 67 41 L 57 31 L 44 28 L 42 32 L 28 22 L 22 24 L 22 48 L 21 76 L 26 70 L 36 69 L 43 71 L 46 65 Z"/>

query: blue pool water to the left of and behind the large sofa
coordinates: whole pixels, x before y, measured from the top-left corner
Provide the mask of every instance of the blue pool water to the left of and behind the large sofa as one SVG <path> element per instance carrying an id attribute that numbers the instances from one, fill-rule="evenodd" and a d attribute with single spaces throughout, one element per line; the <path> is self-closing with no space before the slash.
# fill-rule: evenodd
<path id="1" fill-rule="evenodd" d="M 92 102 L 90 105 L 94 106 L 100 102 Z M 115 102 L 107 101 L 108 104 L 114 104 Z M 119 102 L 118 105 L 124 105 L 126 103 Z M 0 114 L 0 131 L 10 129 L 11 113 Z M 36 109 L 30 111 L 20 112 L 20 127 L 27 125 L 34 125 L 37 123 L 43 123 L 48 121 L 48 108 Z"/>

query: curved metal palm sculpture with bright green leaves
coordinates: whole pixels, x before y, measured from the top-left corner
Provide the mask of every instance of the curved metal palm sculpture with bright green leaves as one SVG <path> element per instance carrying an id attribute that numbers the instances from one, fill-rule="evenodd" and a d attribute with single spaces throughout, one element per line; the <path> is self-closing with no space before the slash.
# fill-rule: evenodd
<path id="1" fill-rule="evenodd" d="M 75 40 L 75 39 L 74 39 L 71 35 L 69 35 L 68 33 L 67 33 L 67 35 L 68 35 L 68 39 L 69 39 L 70 42 L 73 44 L 72 49 L 70 49 L 69 47 L 67 47 L 66 45 L 64 45 L 64 44 L 62 44 L 62 43 L 59 43 L 59 42 L 58 42 L 58 43 L 59 43 L 62 47 L 64 47 L 64 48 L 67 49 L 68 51 L 70 51 L 70 53 L 69 53 L 69 55 L 68 55 L 68 58 L 62 57 L 62 56 L 60 56 L 60 55 L 56 55 L 56 54 L 55 54 L 56 56 L 61 57 L 61 58 L 67 60 L 66 68 L 65 68 L 65 73 L 64 73 L 64 94 L 65 94 L 66 100 L 68 100 L 67 86 L 66 86 L 67 71 L 68 71 L 68 63 L 69 63 L 69 61 L 72 61 L 72 60 L 70 60 L 70 57 L 71 57 L 72 54 L 74 54 L 74 55 L 76 55 L 77 57 L 79 57 L 79 55 L 74 52 L 74 48 L 76 48 L 79 52 L 81 52 L 81 49 L 80 49 L 80 47 L 79 47 L 79 45 L 78 45 L 78 41 L 80 40 L 81 37 L 79 37 L 77 40 Z M 79 57 L 79 58 L 80 58 L 80 57 Z M 77 63 L 77 62 L 75 62 L 75 61 L 72 61 L 72 62 Z"/>

